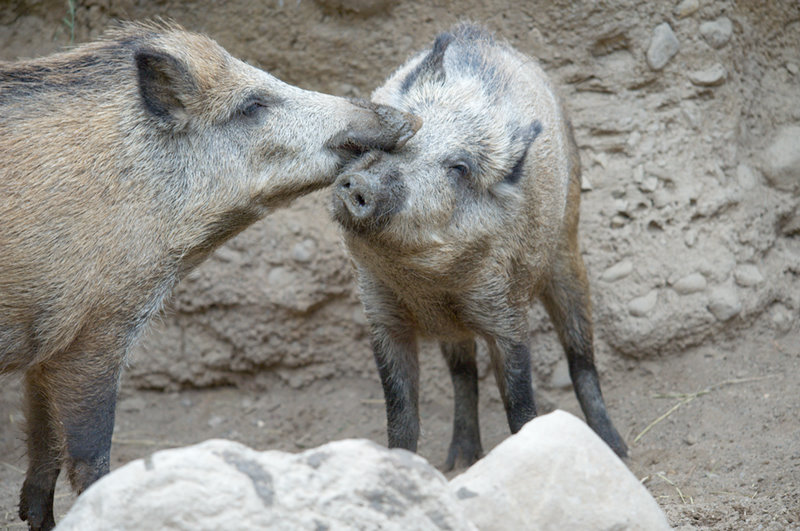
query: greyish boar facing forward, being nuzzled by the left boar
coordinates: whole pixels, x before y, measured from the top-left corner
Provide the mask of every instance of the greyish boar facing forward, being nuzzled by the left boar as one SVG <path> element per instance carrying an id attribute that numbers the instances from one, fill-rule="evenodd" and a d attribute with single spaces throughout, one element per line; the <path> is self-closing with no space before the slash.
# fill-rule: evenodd
<path id="1" fill-rule="evenodd" d="M 333 193 L 372 331 L 389 446 L 417 447 L 418 336 L 440 342 L 455 389 L 448 469 L 482 452 L 476 337 L 488 345 L 511 431 L 531 420 L 527 314 L 539 298 L 588 424 L 626 455 L 594 363 L 577 147 L 542 69 L 461 24 L 394 72 L 373 101 L 423 123 L 402 149 L 369 154 L 341 174 Z"/>

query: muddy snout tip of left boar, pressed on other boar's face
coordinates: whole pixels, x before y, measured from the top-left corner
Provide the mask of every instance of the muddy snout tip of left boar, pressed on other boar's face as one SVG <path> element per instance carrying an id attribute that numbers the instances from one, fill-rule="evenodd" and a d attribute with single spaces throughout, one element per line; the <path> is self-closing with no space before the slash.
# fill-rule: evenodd
<path id="1" fill-rule="evenodd" d="M 416 116 L 386 105 L 368 101 L 353 101 L 352 104 L 357 109 L 347 129 L 328 143 L 345 158 L 373 149 L 400 149 L 422 126 L 422 121 Z"/>

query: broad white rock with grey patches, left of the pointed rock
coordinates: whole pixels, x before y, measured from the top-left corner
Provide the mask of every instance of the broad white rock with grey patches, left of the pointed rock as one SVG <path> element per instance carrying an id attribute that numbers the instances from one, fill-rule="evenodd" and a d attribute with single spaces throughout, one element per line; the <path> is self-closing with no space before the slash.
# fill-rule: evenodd
<path id="1" fill-rule="evenodd" d="M 346 440 L 288 454 L 211 440 L 105 476 L 58 529 L 475 529 L 461 506 L 405 450 Z"/>

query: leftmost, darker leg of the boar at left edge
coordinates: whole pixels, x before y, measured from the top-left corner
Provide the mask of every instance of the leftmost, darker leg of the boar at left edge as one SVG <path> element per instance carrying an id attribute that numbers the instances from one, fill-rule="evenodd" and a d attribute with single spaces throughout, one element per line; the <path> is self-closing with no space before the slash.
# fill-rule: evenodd
<path id="1" fill-rule="evenodd" d="M 33 530 L 56 525 L 53 495 L 60 470 L 61 442 L 54 429 L 51 398 L 42 384 L 39 367 L 25 374 L 25 417 L 28 472 L 19 498 L 19 517 Z"/>

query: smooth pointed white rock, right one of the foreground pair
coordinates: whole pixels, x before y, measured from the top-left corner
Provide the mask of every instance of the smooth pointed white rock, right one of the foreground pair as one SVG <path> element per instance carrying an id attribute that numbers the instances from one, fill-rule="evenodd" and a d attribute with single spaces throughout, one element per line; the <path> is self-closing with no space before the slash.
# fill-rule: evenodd
<path id="1" fill-rule="evenodd" d="M 625 464 L 563 411 L 532 420 L 450 486 L 481 531 L 670 528 Z"/>

